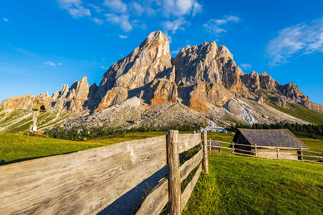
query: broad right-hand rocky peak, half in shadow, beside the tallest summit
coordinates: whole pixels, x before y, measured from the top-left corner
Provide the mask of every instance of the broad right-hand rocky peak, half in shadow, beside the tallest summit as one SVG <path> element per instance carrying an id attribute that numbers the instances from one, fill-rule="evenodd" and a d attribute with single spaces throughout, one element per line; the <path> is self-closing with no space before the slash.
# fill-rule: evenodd
<path id="1" fill-rule="evenodd" d="M 237 94 L 248 94 L 240 79 L 242 71 L 235 64 L 233 55 L 214 41 L 183 48 L 173 64 L 182 99 L 223 105 Z"/>

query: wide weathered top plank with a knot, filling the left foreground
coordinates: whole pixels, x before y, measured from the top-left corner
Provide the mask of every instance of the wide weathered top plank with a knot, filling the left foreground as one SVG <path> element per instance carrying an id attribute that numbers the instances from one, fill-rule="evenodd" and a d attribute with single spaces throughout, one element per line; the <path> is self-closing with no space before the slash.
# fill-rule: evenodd
<path id="1" fill-rule="evenodd" d="M 160 136 L 0 166 L 0 214 L 96 214 L 166 159 Z"/>

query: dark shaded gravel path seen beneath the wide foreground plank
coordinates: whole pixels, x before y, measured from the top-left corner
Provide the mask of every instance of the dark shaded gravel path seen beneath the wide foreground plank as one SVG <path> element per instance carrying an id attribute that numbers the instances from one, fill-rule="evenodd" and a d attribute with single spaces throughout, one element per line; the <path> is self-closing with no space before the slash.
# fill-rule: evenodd
<path id="1" fill-rule="evenodd" d="M 138 174 L 140 174 L 140 172 L 138 172 Z M 151 175 L 148 179 L 145 179 L 135 188 L 125 193 L 119 199 L 115 200 L 108 207 L 101 210 L 97 215 L 132 214 L 134 211 L 136 211 L 136 209 L 140 207 L 143 199 L 146 197 L 146 193 L 148 194 L 148 186 L 150 188 L 156 186 L 158 181 L 164 178 L 167 174 L 168 165 L 164 166 L 159 171 Z"/>

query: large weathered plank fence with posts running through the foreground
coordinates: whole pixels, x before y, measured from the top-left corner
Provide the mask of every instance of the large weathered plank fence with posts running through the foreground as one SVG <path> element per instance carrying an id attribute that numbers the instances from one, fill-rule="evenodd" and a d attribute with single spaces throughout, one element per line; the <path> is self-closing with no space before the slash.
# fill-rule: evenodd
<path id="1" fill-rule="evenodd" d="M 202 149 L 179 166 L 179 153 Z M 96 214 L 168 164 L 136 214 L 159 214 L 169 201 L 180 214 L 202 170 L 208 173 L 206 132 L 125 141 L 69 154 L 0 166 L 0 214 Z M 181 193 L 181 182 L 202 161 Z"/>

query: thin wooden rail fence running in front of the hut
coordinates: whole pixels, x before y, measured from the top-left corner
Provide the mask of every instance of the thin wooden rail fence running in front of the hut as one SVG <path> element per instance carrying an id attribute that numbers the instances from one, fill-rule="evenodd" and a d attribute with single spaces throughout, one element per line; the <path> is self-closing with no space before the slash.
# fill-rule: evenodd
<path id="1" fill-rule="evenodd" d="M 208 148 L 209 152 L 215 152 L 215 153 L 221 153 L 221 154 L 231 154 L 231 155 L 241 155 L 241 156 L 248 156 L 248 157 L 257 157 L 257 158 L 266 158 L 264 156 L 259 156 L 259 154 L 261 152 L 259 150 L 257 151 L 257 149 L 271 149 L 271 150 L 276 150 L 276 152 L 274 152 L 274 155 L 275 155 L 274 157 L 275 158 L 266 158 L 266 159 L 302 161 L 302 162 L 311 162 L 311 163 L 323 164 L 321 162 L 303 160 L 303 157 L 321 158 L 321 159 L 323 159 L 323 151 L 322 151 L 322 153 L 320 153 L 320 152 L 316 152 L 316 151 L 307 151 L 307 150 L 303 150 L 303 149 L 295 150 L 295 149 L 290 149 L 290 148 L 286 148 L 286 147 L 284 148 L 284 147 L 276 147 L 276 146 L 244 145 L 244 144 L 237 144 L 237 143 L 234 143 L 234 142 L 228 143 L 228 142 L 222 142 L 222 141 L 215 141 L 215 142 L 220 142 L 220 143 L 231 144 L 232 148 L 228 148 L 228 147 L 223 147 L 223 146 L 212 146 L 211 141 L 212 141 L 211 139 L 207 140 L 207 142 L 210 142 L 210 144 L 207 145 L 207 148 Z M 237 148 L 234 147 L 235 145 L 237 145 L 237 146 L 249 146 L 249 147 L 253 148 L 253 151 L 252 150 L 237 149 Z M 211 149 L 220 149 L 220 151 L 213 151 Z M 223 151 L 221 151 L 221 149 L 231 150 L 232 152 L 231 153 L 223 152 Z M 239 152 L 237 152 L 237 151 L 239 151 Z M 247 152 L 249 154 L 246 154 L 244 152 Z M 292 154 L 292 152 L 296 152 L 297 154 Z M 316 154 L 316 156 L 304 155 L 303 152 Z M 270 152 L 266 152 L 266 153 L 270 153 Z M 286 157 L 287 155 L 297 156 L 297 157 L 300 158 L 300 160 L 290 159 L 290 158 L 283 158 L 282 157 L 282 156 Z M 317 156 L 317 155 L 319 155 L 319 156 Z"/>

